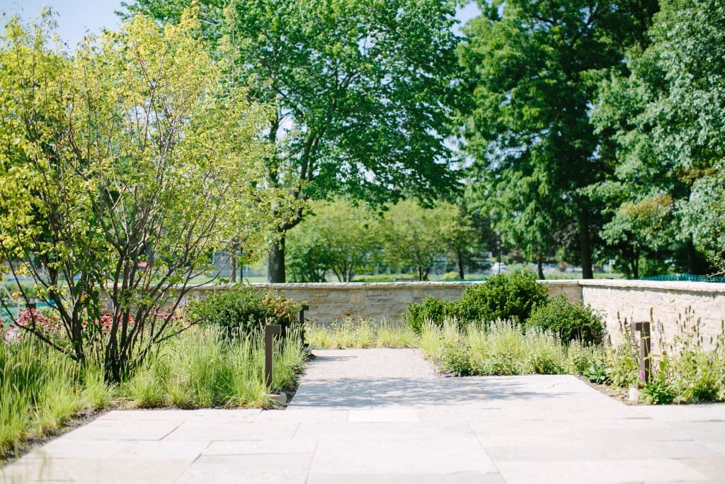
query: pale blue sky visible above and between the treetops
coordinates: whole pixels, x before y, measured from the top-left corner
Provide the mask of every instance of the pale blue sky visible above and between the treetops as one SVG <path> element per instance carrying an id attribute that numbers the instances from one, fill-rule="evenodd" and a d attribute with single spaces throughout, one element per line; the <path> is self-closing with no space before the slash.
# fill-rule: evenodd
<path id="1" fill-rule="evenodd" d="M 0 11 L 28 19 L 36 17 L 45 5 L 58 13 L 58 34 L 70 47 L 80 42 L 86 30 L 99 33 L 101 28 L 119 25 L 114 12 L 121 9 L 120 0 L 0 0 Z M 476 5 L 469 4 L 459 9 L 456 17 L 465 22 L 477 12 Z"/>

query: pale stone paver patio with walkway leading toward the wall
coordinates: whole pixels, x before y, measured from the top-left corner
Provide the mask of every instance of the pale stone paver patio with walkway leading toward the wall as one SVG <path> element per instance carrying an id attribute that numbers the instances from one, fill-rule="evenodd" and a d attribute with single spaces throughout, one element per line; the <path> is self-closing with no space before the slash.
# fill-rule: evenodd
<path id="1" fill-rule="evenodd" d="M 286 410 L 111 411 L 0 482 L 725 483 L 725 405 L 626 406 L 569 376 L 444 378 L 315 351 Z"/>

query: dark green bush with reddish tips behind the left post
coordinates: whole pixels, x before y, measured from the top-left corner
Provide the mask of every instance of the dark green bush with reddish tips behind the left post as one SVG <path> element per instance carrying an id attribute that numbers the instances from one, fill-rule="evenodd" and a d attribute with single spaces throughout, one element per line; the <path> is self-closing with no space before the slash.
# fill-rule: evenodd
<path id="1" fill-rule="evenodd" d="M 265 324 L 281 324 L 283 335 L 299 330 L 301 310 L 301 303 L 278 292 L 237 284 L 189 303 L 188 316 L 205 326 L 218 327 L 228 338 L 235 338 L 260 332 Z"/>

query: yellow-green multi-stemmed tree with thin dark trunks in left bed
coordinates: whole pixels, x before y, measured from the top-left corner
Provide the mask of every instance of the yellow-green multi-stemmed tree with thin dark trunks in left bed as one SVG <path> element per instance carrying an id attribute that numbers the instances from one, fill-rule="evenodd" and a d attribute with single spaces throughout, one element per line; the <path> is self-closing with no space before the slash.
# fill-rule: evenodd
<path id="1" fill-rule="evenodd" d="M 117 381 L 180 330 L 213 250 L 259 247 L 274 226 L 283 201 L 255 187 L 271 110 L 224 89 L 194 11 L 164 28 L 134 17 L 72 56 L 51 24 L 10 20 L 0 42 L 0 252 L 70 343 L 24 328 Z"/>

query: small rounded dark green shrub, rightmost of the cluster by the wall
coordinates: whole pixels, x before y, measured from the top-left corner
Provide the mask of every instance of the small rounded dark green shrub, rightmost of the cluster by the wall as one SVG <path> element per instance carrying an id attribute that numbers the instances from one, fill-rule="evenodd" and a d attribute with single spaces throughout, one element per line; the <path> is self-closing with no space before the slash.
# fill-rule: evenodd
<path id="1" fill-rule="evenodd" d="M 570 303 L 563 294 L 537 306 L 526 319 L 526 327 L 555 332 L 563 341 L 595 344 L 603 343 L 605 332 L 602 320 L 591 307 Z"/>

